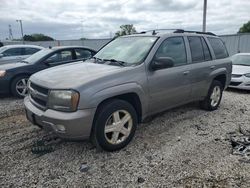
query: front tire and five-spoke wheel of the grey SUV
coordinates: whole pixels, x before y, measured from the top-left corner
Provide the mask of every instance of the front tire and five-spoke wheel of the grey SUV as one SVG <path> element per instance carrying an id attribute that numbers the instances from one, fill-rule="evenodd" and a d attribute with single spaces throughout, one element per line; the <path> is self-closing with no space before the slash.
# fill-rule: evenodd
<path id="1" fill-rule="evenodd" d="M 122 149 L 134 137 L 137 122 L 136 111 L 130 103 L 114 99 L 102 104 L 92 132 L 94 144 L 105 151 Z"/>

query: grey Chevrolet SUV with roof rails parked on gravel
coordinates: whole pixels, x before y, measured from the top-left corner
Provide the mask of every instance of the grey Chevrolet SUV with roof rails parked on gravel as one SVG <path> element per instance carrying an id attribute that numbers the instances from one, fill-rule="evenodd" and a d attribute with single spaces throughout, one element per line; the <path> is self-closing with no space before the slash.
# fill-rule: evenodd
<path id="1" fill-rule="evenodd" d="M 155 113 L 192 101 L 217 109 L 231 71 L 212 33 L 143 32 L 111 41 L 85 63 L 32 75 L 24 103 L 33 124 L 114 151 Z"/>

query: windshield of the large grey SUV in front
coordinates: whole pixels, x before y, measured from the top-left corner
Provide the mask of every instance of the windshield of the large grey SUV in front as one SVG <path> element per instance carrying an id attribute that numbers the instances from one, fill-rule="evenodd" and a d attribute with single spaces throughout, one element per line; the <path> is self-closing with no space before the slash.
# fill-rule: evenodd
<path id="1" fill-rule="evenodd" d="M 153 46 L 157 37 L 120 37 L 110 42 L 96 55 L 99 59 L 111 59 L 126 64 L 141 63 Z"/>

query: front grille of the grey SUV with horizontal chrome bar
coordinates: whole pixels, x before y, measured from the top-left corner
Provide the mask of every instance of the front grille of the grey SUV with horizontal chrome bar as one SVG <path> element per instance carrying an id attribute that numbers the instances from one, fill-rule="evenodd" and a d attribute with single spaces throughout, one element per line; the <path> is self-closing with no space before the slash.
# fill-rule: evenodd
<path id="1" fill-rule="evenodd" d="M 49 90 L 34 83 L 29 85 L 29 97 L 32 104 L 41 110 L 46 110 Z"/>

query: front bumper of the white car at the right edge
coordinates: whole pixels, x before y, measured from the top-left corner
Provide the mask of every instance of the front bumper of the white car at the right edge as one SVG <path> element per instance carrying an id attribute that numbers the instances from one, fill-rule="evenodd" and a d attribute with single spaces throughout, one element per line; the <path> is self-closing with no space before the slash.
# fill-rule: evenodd
<path id="1" fill-rule="evenodd" d="M 231 79 L 231 82 L 229 84 L 230 88 L 237 88 L 237 89 L 244 89 L 244 90 L 250 90 L 250 78 L 242 75 L 238 78 Z"/>

